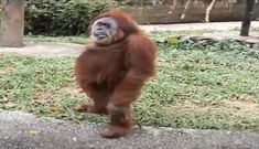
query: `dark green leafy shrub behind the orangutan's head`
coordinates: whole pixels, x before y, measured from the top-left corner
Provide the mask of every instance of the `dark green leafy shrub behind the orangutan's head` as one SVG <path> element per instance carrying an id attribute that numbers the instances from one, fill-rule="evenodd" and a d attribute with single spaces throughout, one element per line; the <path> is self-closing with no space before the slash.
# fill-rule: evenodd
<path id="1" fill-rule="evenodd" d="M 117 7 L 112 0 L 26 0 L 25 34 L 86 34 L 94 17 Z"/>

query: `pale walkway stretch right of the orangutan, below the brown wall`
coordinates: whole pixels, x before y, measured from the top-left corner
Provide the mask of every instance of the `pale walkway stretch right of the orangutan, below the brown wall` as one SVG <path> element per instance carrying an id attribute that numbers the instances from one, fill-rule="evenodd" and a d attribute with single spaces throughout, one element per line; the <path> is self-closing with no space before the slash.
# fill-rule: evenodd
<path id="1" fill-rule="evenodd" d="M 147 31 L 202 31 L 198 36 L 214 40 L 234 39 L 248 43 L 259 44 L 259 21 L 252 21 L 249 36 L 240 36 L 241 22 L 213 22 L 213 23 L 185 23 L 185 24 L 158 24 L 141 25 Z M 190 35 L 190 34 L 188 34 Z M 197 35 L 197 34 L 193 34 Z"/>

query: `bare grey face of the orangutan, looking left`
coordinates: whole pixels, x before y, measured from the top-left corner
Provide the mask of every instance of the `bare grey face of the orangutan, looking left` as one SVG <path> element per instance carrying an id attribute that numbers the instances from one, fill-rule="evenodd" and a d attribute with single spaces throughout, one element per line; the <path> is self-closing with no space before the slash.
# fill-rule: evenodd
<path id="1" fill-rule="evenodd" d="M 91 26 L 91 40 L 97 44 L 109 44 L 117 33 L 118 24 L 112 18 L 101 18 Z"/>

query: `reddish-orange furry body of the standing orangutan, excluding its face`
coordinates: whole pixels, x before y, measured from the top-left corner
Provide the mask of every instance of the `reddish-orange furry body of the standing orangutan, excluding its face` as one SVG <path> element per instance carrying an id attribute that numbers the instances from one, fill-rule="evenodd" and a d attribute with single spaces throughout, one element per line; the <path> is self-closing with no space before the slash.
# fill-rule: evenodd
<path id="1" fill-rule="evenodd" d="M 109 45 L 89 43 L 77 58 L 75 75 L 83 91 L 94 100 L 78 111 L 108 114 L 110 125 L 101 132 L 114 138 L 132 130 L 131 104 L 141 94 L 148 78 L 155 74 L 157 45 L 126 12 L 111 10 L 96 20 L 110 17 L 119 31 Z M 121 36 L 123 33 L 123 38 Z"/>

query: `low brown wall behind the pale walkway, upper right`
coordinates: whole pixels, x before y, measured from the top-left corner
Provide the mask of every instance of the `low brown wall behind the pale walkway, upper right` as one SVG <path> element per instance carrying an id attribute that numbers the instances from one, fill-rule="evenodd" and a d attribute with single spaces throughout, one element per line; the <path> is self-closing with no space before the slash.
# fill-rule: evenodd
<path id="1" fill-rule="evenodd" d="M 206 9 L 212 0 L 131 0 L 127 8 L 139 23 L 205 22 Z M 255 18 L 259 19 L 259 0 L 256 0 Z M 240 21 L 245 0 L 216 0 L 209 12 L 209 21 Z M 183 17 L 184 18 L 181 18 Z"/>

